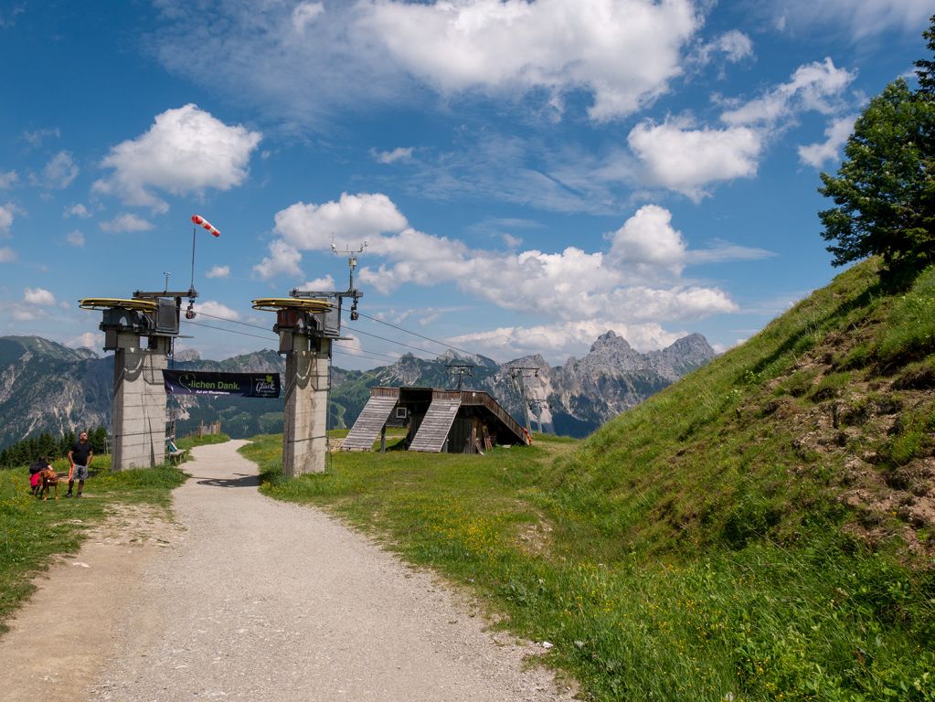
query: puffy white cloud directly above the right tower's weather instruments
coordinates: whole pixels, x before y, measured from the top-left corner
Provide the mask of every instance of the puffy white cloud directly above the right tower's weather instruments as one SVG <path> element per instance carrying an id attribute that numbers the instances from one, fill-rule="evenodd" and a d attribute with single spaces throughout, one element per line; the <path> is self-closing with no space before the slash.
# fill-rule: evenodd
<path id="1" fill-rule="evenodd" d="M 382 232 L 398 232 L 406 223 L 382 193 L 341 193 L 338 202 L 299 202 L 276 213 L 276 232 L 295 248 L 313 251 L 329 249 L 332 240 L 338 249 L 356 247 Z"/>

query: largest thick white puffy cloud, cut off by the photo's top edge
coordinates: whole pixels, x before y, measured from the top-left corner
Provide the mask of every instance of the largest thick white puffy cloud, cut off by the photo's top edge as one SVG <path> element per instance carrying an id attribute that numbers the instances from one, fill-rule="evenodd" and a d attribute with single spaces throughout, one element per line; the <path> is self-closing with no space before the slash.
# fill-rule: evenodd
<path id="1" fill-rule="evenodd" d="M 700 23 L 689 0 L 374 2 L 363 20 L 399 64 L 441 93 L 584 88 L 595 120 L 665 93 Z"/>

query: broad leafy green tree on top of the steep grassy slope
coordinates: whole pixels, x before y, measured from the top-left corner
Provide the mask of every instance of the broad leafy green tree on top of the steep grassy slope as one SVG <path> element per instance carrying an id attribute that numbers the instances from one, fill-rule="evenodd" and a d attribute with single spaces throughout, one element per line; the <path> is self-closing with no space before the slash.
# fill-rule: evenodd
<path id="1" fill-rule="evenodd" d="M 935 260 L 932 212 L 935 101 L 903 79 L 886 86 L 857 119 L 838 175 L 821 174 L 819 212 L 834 265 L 881 254 L 895 270 Z"/>

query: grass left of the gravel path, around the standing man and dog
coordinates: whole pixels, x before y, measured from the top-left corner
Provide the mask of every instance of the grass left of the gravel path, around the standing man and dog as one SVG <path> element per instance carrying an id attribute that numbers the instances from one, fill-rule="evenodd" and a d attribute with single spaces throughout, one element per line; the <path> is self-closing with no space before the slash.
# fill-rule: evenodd
<path id="1" fill-rule="evenodd" d="M 180 439 L 180 448 L 227 440 L 226 437 Z M 65 459 L 52 467 L 68 472 Z M 30 494 L 26 466 L 0 470 L 0 632 L 4 622 L 35 586 L 36 571 L 58 555 L 77 552 L 88 530 L 103 522 L 116 503 L 155 505 L 168 510 L 171 491 L 186 476 L 178 467 L 110 471 L 110 456 L 96 455 L 95 475 L 81 499 L 65 499 L 67 483 L 59 485 L 58 501 L 37 500 Z"/>

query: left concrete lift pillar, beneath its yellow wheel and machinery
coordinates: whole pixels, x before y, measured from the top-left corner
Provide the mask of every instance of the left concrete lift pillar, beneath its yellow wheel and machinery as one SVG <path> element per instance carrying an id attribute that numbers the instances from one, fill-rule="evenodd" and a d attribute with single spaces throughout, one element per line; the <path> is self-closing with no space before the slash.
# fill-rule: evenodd
<path id="1" fill-rule="evenodd" d="M 168 337 L 116 332 L 112 470 L 165 462 L 165 386 Z"/>

